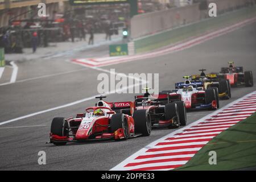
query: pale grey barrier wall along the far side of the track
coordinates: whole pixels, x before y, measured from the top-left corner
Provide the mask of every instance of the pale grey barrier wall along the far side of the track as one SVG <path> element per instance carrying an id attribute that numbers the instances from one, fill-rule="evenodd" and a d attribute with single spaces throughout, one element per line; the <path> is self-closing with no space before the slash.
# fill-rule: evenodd
<path id="1" fill-rule="evenodd" d="M 224 13 L 255 3 L 256 0 L 208 0 L 207 4 L 214 2 L 218 13 Z M 183 24 L 197 22 L 202 18 L 208 18 L 208 10 L 199 10 L 199 3 L 174 8 L 170 10 L 157 11 L 136 15 L 131 19 L 131 39 L 152 35 L 156 32 L 168 30 Z"/>

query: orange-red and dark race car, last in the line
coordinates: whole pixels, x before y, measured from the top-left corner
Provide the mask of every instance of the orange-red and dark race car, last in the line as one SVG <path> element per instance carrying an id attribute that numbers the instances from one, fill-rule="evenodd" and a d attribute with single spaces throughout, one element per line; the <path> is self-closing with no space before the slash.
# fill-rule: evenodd
<path id="1" fill-rule="evenodd" d="M 231 86 L 253 86 L 253 72 L 243 72 L 243 67 L 234 67 L 234 62 L 230 61 L 228 68 L 221 68 L 218 78 L 229 80 Z"/>

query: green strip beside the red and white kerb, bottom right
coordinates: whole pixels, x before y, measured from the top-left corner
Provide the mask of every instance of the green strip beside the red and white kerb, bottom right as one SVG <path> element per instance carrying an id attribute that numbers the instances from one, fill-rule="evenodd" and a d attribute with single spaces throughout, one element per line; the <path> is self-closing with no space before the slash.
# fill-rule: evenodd
<path id="1" fill-rule="evenodd" d="M 216 165 L 209 164 L 209 151 L 216 151 Z M 233 170 L 255 166 L 256 113 L 214 137 L 177 170 Z"/>

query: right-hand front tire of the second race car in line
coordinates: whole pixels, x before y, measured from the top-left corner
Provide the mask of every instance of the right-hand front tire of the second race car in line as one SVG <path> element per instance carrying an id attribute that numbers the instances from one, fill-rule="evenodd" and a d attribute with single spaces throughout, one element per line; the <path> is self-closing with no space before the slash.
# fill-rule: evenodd
<path id="1" fill-rule="evenodd" d="M 166 111 L 165 111 L 165 115 L 166 115 L 166 120 L 170 120 L 170 119 L 175 119 L 175 123 L 174 123 L 174 127 L 177 128 L 180 125 L 180 118 L 179 118 L 179 110 L 177 109 L 177 104 L 176 103 L 170 103 L 166 105 Z M 173 128 L 173 126 L 170 128 Z"/>

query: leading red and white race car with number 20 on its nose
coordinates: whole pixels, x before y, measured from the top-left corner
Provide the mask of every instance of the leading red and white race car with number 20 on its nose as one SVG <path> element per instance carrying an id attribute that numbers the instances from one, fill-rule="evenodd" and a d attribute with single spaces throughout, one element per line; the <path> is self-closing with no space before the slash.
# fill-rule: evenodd
<path id="1" fill-rule="evenodd" d="M 151 120 L 147 110 L 134 113 L 134 102 L 108 103 L 100 98 L 96 106 L 88 107 L 85 113 L 77 114 L 71 118 L 53 118 L 51 123 L 50 141 L 56 145 L 67 142 L 85 142 L 87 140 L 101 139 L 127 139 L 149 136 L 151 133 Z M 131 115 L 116 113 L 115 105 L 119 108 L 129 106 Z"/>

